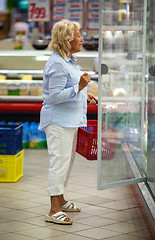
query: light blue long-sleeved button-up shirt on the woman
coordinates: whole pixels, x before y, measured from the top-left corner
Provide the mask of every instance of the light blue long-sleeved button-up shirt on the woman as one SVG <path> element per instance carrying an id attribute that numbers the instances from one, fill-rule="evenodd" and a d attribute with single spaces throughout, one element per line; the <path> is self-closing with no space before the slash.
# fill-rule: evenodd
<path id="1" fill-rule="evenodd" d="M 49 57 L 43 72 L 39 129 L 51 123 L 67 128 L 87 125 L 87 89 L 78 92 L 82 73 L 75 61 L 56 51 Z"/>

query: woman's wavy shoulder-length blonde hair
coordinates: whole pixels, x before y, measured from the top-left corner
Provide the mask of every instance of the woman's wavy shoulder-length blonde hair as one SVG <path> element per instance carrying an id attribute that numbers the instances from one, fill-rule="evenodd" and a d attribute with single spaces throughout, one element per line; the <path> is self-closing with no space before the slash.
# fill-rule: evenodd
<path id="1" fill-rule="evenodd" d="M 65 58 L 71 49 L 70 41 L 74 39 L 75 29 L 80 30 L 80 24 L 78 22 L 63 19 L 55 23 L 52 29 L 52 40 L 49 43 L 49 49 L 51 51 L 57 51 Z"/>

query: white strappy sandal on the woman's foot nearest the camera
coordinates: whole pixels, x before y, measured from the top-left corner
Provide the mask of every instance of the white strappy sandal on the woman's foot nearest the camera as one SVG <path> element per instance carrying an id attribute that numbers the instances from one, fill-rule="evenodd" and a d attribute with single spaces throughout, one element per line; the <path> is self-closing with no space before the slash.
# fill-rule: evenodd
<path id="1" fill-rule="evenodd" d="M 46 215 L 45 221 L 46 222 L 52 222 L 52 223 L 58 223 L 58 224 L 67 224 L 71 225 L 73 222 L 65 221 L 65 219 L 68 218 L 67 214 L 64 212 L 57 212 L 53 214 L 52 216 Z"/>

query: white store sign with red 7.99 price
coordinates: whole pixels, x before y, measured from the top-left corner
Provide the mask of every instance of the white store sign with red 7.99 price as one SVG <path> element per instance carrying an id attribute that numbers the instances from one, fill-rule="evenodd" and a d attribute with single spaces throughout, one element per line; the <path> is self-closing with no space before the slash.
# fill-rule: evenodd
<path id="1" fill-rule="evenodd" d="M 49 0 L 29 0 L 28 21 L 29 22 L 49 22 L 50 21 L 50 1 Z"/>

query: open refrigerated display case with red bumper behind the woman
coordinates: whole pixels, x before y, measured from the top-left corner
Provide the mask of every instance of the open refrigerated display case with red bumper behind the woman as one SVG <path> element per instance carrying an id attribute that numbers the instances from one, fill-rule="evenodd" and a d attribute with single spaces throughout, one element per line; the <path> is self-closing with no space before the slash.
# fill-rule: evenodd
<path id="1" fill-rule="evenodd" d="M 39 121 L 43 69 L 50 54 L 49 50 L 0 51 L 0 121 Z M 98 74 L 94 63 L 97 56 L 97 51 L 82 51 L 76 55 L 81 71 L 87 71 L 93 79 L 88 90 L 96 96 Z M 94 115 L 90 105 L 88 112 L 90 117 Z"/>

